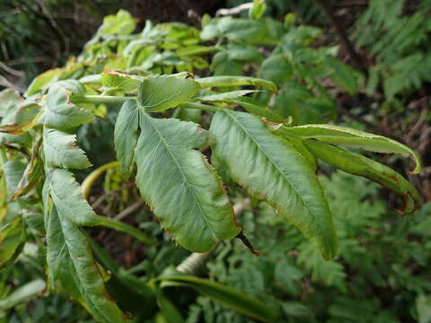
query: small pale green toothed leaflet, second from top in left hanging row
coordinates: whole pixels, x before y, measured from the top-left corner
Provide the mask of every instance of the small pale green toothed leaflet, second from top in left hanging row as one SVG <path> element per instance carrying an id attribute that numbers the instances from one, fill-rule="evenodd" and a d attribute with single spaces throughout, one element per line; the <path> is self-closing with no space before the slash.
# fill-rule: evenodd
<path id="1" fill-rule="evenodd" d="M 43 129 L 43 153 L 51 167 L 82 170 L 92 166 L 84 151 L 77 147 L 76 135 L 57 129 Z"/>

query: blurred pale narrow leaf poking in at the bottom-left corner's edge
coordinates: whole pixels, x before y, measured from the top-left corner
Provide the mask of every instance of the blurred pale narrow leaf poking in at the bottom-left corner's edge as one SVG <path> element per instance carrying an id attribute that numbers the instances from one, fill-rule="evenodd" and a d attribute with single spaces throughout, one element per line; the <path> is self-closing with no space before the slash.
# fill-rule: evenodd
<path id="1" fill-rule="evenodd" d="M 21 285 L 6 298 L 0 300 L 0 310 L 9 310 L 23 302 L 30 301 L 40 292 L 43 292 L 45 286 L 45 282 L 41 279 L 35 279 L 29 283 Z"/>

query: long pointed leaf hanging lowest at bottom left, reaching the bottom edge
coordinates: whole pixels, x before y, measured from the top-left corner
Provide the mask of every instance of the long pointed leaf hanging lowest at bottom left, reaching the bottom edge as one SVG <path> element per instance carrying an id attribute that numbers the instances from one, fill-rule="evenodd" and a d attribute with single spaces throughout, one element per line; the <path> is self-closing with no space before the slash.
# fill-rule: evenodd
<path id="1" fill-rule="evenodd" d="M 106 292 L 84 233 L 68 220 L 68 214 L 57 210 L 56 202 L 46 215 L 45 226 L 49 286 L 66 291 L 99 322 L 125 322 Z"/>

